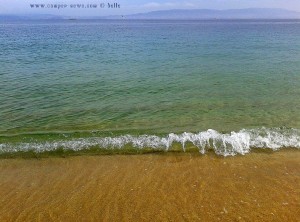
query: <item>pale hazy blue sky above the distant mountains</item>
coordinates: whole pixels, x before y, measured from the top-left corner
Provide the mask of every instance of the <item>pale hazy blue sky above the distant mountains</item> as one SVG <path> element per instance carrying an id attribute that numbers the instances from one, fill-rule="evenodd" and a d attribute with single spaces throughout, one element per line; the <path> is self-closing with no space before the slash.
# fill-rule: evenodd
<path id="1" fill-rule="evenodd" d="M 108 8 L 108 3 L 120 9 Z M 100 8 L 100 3 L 105 7 Z M 64 9 L 36 9 L 30 4 L 66 4 Z M 70 4 L 97 4 L 96 9 L 71 9 Z M 164 9 L 284 8 L 300 12 L 300 0 L 0 0 L 0 14 L 120 15 Z"/>

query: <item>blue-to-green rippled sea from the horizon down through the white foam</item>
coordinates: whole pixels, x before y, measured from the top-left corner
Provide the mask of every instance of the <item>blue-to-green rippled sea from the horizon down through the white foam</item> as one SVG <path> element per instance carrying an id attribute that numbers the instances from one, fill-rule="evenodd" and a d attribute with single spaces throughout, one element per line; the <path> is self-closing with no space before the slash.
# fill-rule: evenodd
<path id="1" fill-rule="evenodd" d="M 0 33 L 1 153 L 300 148 L 299 20 L 22 21 Z"/>

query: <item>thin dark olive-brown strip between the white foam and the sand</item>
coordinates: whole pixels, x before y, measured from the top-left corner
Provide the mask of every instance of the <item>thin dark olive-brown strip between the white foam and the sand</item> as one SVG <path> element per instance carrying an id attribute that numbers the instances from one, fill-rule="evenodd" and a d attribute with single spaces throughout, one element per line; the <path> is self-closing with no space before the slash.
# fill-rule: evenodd
<path id="1" fill-rule="evenodd" d="M 179 144 L 176 144 L 169 150 L 163 149 L 152 149 L 152 148 L 135 148 L 132 146 L 126 146 L 122 149 L 114 148 L 98 148 L 93 147 L 90 149 L 82 150 L 68 150 L 68 149 L 56 149 L 51 151 L 36 152 L 34 150 L 29 151 L 17 151 L 17 152 L 6 152 L 0 153 L 0 160 L 9 159 L 48 159 L 48 158 L 72 158 L 72 157 L 96 157 L 96 156 L 139 156 L 139 155 L 193 155 L 193 156 L 215 156 L 215 158 L 233 158 L 243 157 L 251 154 L 272 154 L 276 152 L 297 152 L 297 147 L 282 147 L 279 149 L 271 148 L 251 148 L 249 152 L 241 153 L 230 153 L 229 155 L 218 154 L 214 149 L 205 150 L 204 153 L 193 145 L 188 144 L 183 149 Z"/>

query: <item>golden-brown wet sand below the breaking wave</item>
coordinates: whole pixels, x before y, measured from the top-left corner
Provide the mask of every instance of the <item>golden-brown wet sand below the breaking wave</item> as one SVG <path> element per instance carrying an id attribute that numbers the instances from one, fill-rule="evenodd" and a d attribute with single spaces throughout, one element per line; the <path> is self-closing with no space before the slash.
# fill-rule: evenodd
<path id="1" fill-rule="evenodd" d="M 0 159 L 0 221 L 299 221 L 300 152 Z"/>

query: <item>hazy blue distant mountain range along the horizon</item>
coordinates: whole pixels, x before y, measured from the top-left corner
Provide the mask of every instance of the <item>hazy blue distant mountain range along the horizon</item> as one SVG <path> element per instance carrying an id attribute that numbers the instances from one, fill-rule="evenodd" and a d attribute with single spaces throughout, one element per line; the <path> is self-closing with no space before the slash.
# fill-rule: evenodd
<path id="1" fill-rule="evenodd" d="M 117 16 L 57 16 L 57 15 L 0 15 L 0 21 L 40 20 L 40 19 L 300 19 L 300 12 L 285 9 L 248 8 L 248 9 L 174 9 L 152 11 L 132 15 Z"/>

